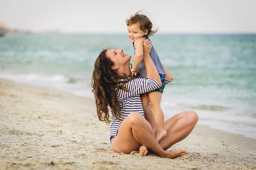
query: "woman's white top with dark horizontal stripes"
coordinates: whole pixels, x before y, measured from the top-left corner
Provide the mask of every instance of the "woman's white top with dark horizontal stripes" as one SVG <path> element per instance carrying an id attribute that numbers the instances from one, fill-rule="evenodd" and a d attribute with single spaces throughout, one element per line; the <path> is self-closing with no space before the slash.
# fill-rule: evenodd
<path id="1" fill-rule="evenodd" d="M 166 84 L 168 84 L 169 80 L 166 80 Z M 142 116 L 144 116 L 144 111 L 142 107 L 142 102 L 140 99 L 140 94 L 147 93 L 153 91 L 156 88 L 159 88 L 160 85 L 151 78 L 137 78 L 133 79 L 130 82 L 126 83 L 128 91 L 117 90 L 117 100 L 122 106 L 120 109 L 121 119 L 119 121 L 115 116 L 111 113 L 111 126 L 110 126 L 110 136 L 116 136 L 117 130 L 119 130 L 120 125 L 123 120 L 131 113 L 138 112 Z M 145 116 L 144 116 L 145 117 Z"/>

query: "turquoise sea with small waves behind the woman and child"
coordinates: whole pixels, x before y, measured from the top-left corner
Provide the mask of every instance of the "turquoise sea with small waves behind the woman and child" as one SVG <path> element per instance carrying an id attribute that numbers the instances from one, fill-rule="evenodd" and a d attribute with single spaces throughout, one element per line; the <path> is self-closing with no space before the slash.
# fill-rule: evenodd
<path id="1" fill-rule="evenodd" d="M 166 118 L 195 110 L 201 124 L 256 138 L 255 34 L 156 34 L 151 41 L 174 76 L 161 102 Z M 93 64 L 105 47 L 134 54 L 126 35 L 7 35 L 0 78 L 93 98 Z"/>

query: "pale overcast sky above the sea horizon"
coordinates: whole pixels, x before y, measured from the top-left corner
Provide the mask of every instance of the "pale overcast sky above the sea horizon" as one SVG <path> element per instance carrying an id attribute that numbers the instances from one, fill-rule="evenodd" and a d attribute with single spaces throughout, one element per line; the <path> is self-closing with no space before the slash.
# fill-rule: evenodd
<path id="1" fill-rule="evenodd" d="M 126 33 L 143 9 L 159 33 L 256 33 L 256 0 L 0 0 L 0 23 L 67 33 Z"/>

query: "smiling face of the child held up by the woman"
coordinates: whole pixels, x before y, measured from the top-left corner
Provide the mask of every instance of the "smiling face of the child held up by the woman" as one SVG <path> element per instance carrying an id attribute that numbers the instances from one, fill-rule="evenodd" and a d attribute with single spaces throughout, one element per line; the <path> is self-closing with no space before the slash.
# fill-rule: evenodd
<path id="1" fill-rule="evenodd" d="M 147 30 L 142 31 L 140 29 L 139 23 L 136 23 L 136 24 L 131 25 L 131 26 L 127 26 L 127 28 L 128 28 L 128 37 L 131 40 L 131 42 L 134 42 L 138 38 L 143 37 L 143 35 L 148 33 Z"/>

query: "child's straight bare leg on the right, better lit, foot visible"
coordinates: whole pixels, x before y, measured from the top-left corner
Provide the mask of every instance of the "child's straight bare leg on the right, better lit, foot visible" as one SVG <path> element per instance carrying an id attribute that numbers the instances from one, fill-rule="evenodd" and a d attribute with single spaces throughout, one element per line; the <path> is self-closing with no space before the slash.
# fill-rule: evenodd
<path id="1" fill-rule="evenodd" d="M 163 111 L 160 106 L 161 98 L 162 98 L 162 92 L 160 91 L 154 91 L 149 93 L 149 101 L 151 108 L 154 112 L 154 118 L 157 125 L 157 134 L 156 139 L 157 142 L 163 137 L 166 136 L 167 132 L 163 128 L 163 122 L 164 122 L 164 116 Z"/>

